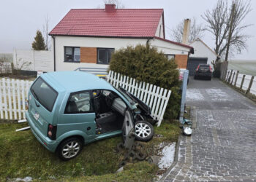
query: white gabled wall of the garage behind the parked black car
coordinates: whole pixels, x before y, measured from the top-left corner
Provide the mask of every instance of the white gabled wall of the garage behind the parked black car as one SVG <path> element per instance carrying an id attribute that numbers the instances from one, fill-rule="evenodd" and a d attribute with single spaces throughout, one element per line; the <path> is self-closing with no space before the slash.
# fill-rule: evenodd
<path id="1" fill-rule="evenodd" d="M 194 41 L 190 46 L 194 47 L 194 54 L 189 57 L 192 58 L 208 58 L 207 64 L 211 65 L 211 68 L 214 68 L 211 64 L 212 60 L 216 60 L 217 56 L 211 50 L 203 44 L 202 41 Z"/>

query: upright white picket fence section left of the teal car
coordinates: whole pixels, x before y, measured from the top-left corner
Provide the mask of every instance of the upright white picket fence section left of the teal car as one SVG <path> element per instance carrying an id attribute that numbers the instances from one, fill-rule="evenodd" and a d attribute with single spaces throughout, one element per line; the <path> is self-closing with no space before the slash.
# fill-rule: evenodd
<path id="1" fill-rule="evenodd" d="M 24 119 L 31 81 L 0 79 L 0 119 Z"/>

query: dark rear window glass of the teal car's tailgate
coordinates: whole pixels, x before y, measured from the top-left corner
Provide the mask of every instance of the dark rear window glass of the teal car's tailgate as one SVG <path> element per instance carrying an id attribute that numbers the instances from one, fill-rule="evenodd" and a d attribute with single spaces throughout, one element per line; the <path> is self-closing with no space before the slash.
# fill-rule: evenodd
<path id="1" fill-rule="evenodd" d="M 54 103 L 58 96 L 58 92 L 53 90 L 49 84 L 47 84 L 41 77 L 31 87 L 31 93 L 39 103 L 42 104 L 48 111 L 53 110 Z"/>

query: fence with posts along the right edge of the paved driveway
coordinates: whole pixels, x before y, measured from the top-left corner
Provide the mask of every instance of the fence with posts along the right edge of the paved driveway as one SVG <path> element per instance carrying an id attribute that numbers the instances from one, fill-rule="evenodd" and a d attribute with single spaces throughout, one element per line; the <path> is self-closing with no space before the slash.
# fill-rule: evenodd
<path id="1" fill-rule="evenodd" d="M 237 79 L 236 79 L 237 76 Z M 256 77 L 256 76 L 255 76 Z M 236 87 L 241 87 L 242 90 L 248 90 L 249 92 L 252 93 L 253 95 L 256 95 L 256 78 L 252 78 L 252 75 L 244 75 L 244 74 L 239 74 L 238 71 L 236 70 L 228 70 L 227 75 L 226 75 L 226 82 L 229 82 L 229 84 Z M 244 82 L 243 82 L 244 79 Z M 252 85 L 249 87 L 249 84 L 252 80 Z"/>

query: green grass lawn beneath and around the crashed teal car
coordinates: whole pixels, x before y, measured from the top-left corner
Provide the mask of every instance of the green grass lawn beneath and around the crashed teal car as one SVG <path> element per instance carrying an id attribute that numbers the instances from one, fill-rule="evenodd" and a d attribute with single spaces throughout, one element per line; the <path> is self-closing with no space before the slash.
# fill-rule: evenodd
<path id="1" fill-rule="evenodd" d="M 26 126 L 26 123 L 0 121 L 0 181 L 26 176 L 44 181 L 150 181 L 157 173 L 157 167 L 148 162 L 126 165 L 123 172 L 116 173 L 121 154 L 115 149 L 121 137 L 86 145 L 78 157 L 63 162 L 45 149 L 30 130 L 15 132 Z M 161 137 L 154 137 L 146 146 L 177 141 L 178 122 L 162 122 L 155 127 L 155 133 Z"/>

